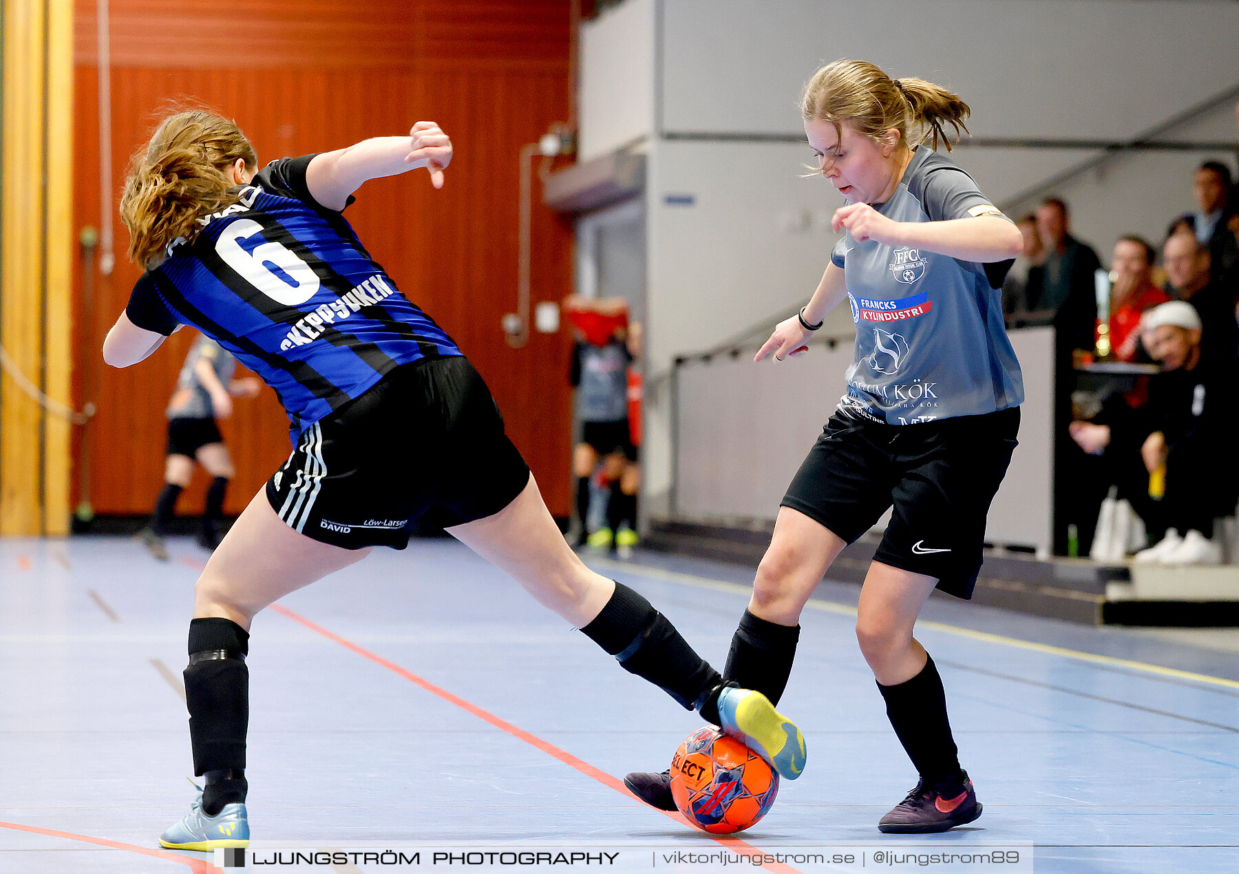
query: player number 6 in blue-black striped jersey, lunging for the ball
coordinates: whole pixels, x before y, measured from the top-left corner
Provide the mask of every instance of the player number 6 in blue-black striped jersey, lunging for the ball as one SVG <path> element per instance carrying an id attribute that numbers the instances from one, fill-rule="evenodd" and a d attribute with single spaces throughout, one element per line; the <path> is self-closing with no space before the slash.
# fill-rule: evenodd
<path id="1" fill-rule="evenodd" d="M 569 548 L 503 432 L 486 384 L 451 338 L 400 295 L 341 215 L 367 180 L 426 167 L 436 188 L 447 135 L 419 121 L 258 171 L 232 121 L 164 120 L 134 156 L 121 217 L 146 267 L 104 342 L 128 366 L 178 323 L 217 339 L 275 389 L 295 449 L 245 508 L 195 588 L 185 671 L 195 774 L 206 786 L 160 838 L 209 850 L 249 842 L 245 740 L 254 615 L 437 524 L 513 576 L 621 665 L 777 763 L 799 730 L 761 694 L 722 678 L 638 593 Z"/>

